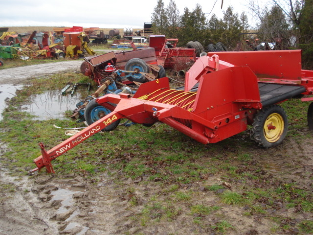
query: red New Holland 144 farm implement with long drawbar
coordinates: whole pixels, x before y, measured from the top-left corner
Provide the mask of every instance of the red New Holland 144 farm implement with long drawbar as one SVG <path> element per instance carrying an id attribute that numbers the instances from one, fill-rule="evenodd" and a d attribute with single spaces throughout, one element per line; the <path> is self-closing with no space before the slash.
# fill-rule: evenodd
<path id="1" fill-rule="evenodd" d="M 224 58 L 224 60 L 220 60 Z M 132 94 L 107 94 L 95 102 L 112 112 L 34 160 L 34 172 L 120 118 L 151 126 L 161 121 L 203 144 L 215 143 L 252 126 L 263 147 L 280 144 L 288 120 L 278 104 L 313 94 L 313 71 L 301 69 L 300 50 L 220 52 L 202 56 L 186 73 L 185 86 L 170 89 L 167 77 L 142 84 Z M 307 96 L 302 101 L 313 101 Z M 117 123 L 117 124 L 116 124 Z M 308 109 L 313 130 L 313 102 Z"/>

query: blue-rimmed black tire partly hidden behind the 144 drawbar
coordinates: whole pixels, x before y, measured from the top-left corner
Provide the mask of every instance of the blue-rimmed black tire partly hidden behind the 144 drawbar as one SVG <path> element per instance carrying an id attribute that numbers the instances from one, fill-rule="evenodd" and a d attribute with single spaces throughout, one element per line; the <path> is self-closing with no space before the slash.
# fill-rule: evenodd
<path id="1" fill-rule="evenodd" d="M 103 118 L 104 116 L 110 114 L 112 111 L 99 105 L 96 103 L 96 101 L 93 99 L 89 102 L 87 105 L 85 112 L 84 112 L 84 117 L 88 125 L 91 125 L 95 121 Z M 120 119 L 112 122 L 110 125 L 102 129 L 102 131 L 112 131 L 114 130 L 120 122 Z"/>

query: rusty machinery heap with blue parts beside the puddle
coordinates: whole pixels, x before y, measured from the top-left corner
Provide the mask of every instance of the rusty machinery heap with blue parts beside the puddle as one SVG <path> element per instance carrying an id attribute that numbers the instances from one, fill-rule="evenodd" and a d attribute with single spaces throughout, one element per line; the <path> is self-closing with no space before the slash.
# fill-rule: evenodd
<path id="1" fill-rule="evenodd" d="M 136 56 L 140 56 L 140 58 L 136 58 Z M 156 65 L 153 48 L 122 53 L 109 52 L 84 59 L 81 72 L 93 79 L 99 88 L 76 104 L 71 118 L 79 121 L 86 120 L 88 124 L 111 112 L 102 107 L 90 108 L 94 105 L 94 99 L 104 94 L 134 94 L 140 84 L 166 75 L 164 68 Z M 93 109 L 95 110 L 93 111 Z"/>

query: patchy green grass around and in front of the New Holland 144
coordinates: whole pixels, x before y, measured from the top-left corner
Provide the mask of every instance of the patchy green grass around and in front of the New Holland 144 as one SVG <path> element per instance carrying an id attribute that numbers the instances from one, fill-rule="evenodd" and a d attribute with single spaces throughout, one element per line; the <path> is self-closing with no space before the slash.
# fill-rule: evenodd
<path id="1" fill-rule="evenodd" d="M 86 79 L 72 73 L 33 79 L 10 100 L 0 121 L 0 140 L 8 147 L 1 162 L 11 174 L 24 175 L 33 168 L 32 160 L 40 155 L 39 141 L 48 150 L 67 139 L 54 124 L 84 126 L 70 118 L 33 121 L 19 107 L 30 94 Z M 283 103 L 290 131 L 275 149 L 256 146 L 249 131 L 203 145 L 162 123 L 150 128 L 119 126 L 54 160 L 56 177 L 84 177 L 89 183 L 88 199 L 94 203 L 98 199 L 92 195 L 101 193 L 126 203 L 131 211 L 126 219 L 137 232 L 121 227 L 120 234 L 144 235 L 156 227 L 173 235 L 313 234 L 312 152 L 305 148 L 312 135 L 306 129 L 306 105 L 299 99 Z M 108 178 L 112 183 L 101 191 L 97 186 Z M 118 211 L 121 205 L 110 206 Z"/>

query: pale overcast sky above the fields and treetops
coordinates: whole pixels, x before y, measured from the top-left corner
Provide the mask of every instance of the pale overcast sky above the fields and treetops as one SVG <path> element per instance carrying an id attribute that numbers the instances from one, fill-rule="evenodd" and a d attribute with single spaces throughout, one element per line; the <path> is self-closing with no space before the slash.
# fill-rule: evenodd
<path id="1" fill-rule="evenodd" d="M 163 2 L 166 7 L 169 0 Z M 151 22 L 156 3 L 157 0 L 3 0 L 0 4 L 0 27 L 143 28 L 143 23 Z M 247 0 L 224 0 L 223 9 L 222 0 L 175 0 L 175 3 L 180 15 L 185 7 L 192 11 L 199 3 L 208 19 L 213 13 L 221 19 L 228 6 L 233 6 L 239 15 L 248 11 Z"/>

